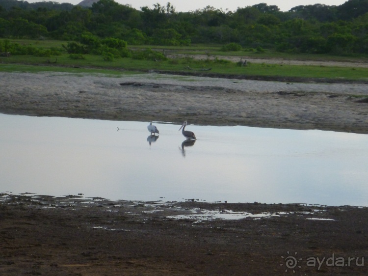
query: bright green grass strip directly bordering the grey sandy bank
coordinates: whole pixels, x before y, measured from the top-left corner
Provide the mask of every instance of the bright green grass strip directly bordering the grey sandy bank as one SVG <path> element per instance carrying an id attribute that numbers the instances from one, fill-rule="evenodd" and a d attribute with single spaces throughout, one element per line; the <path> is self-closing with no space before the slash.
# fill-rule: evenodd
<path id="1" fill-rule="evenodd" d="M 210 73 L 242 76 L 270 76 L 270 77 L 298 77 L 298 78 L 326 78 L 343 80 L 367 80 L 368 68 L 336 67 L 312 65 L 285 65 L 268 63 L 248 63 L 238 66 L 236 62 L 223 59 L 196 60 L 194 58 L 167 59 L 162 61 L 136 60 L 132 58 L 118 58 L 105 61 L 98 55 L 85 55 L 85 59 L 71 59 L 69 55 L 57 57 L 35 57 L 18 55 L 1 57 L 0 71 L 2 72 L 69 72 L 69 73 L 101 73 L 108 75 L 136 74 L 150 70 L 176 73 Z M 5 63 L 6 62 L 6 63 Z"/>

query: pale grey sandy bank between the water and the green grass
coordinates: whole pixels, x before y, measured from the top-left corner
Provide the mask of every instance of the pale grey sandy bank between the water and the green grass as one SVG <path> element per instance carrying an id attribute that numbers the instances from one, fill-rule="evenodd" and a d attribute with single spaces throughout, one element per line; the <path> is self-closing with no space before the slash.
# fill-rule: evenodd
<path id="1" fill-rule="evenodd" d="M 368 84 L 0 73 L 0 112 L 368 133 Z"/>

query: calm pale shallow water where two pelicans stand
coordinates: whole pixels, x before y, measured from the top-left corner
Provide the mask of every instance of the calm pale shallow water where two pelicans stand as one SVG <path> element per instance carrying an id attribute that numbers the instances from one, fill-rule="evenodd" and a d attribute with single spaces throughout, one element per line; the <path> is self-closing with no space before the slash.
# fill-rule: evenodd
<path id="1" fill-rule="evenodd" d="M 148 124 L 0 114 L 0 193 L 368 206 L 367 135 Z"/>

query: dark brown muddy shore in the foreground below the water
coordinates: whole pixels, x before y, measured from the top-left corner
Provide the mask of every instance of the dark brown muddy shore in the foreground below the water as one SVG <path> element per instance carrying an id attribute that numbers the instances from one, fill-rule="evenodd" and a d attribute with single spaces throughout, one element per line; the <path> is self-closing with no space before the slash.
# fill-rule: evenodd
<path id="1" fill-rule="evenodd" d="M 273 216 L 175 217 L 206 210 Z M 367 216 L 350 206 L 3 196 L 0 275 L 367 275 Z"/>

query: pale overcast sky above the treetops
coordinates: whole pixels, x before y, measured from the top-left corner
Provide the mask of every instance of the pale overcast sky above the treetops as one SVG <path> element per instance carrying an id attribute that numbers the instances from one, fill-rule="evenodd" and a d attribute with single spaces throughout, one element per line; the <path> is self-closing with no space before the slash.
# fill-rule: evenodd
<path id="1" fill-rule="evenodd" d="M 27 2 L 40 2 L 42 0 L 27 0 Z M 53 0 L 55 2 L 78 4 L 82 0 Z M 288 11 L 289 9 L 300 5 L 341 5 L 347 0 L 195 0 L 195 1 L 183 1 L 183 0 L 115 0 L 121 4 L 130 4 L 133 8 L 140 10 L 140 7 L 148 6 L 153 8 L 153 4 L 159 3 L 160 5 L 166 5 L 170 2 L 175 7 L 177 12 L 195 11 L 202 9 L 206 6 L 212 6 L 216 9 L 222 9 L 224 11 L 236 11 L 238 7 L 252 6 L 259 3 L 266 3 L 267 5 L 276 5 L 281 11 Z"/>

